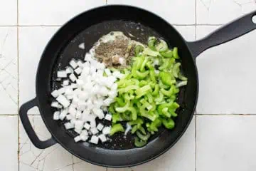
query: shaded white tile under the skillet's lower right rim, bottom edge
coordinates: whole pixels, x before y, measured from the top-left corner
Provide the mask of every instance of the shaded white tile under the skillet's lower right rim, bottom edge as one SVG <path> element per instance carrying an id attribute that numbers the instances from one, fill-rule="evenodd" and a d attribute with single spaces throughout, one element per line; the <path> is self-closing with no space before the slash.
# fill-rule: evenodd
<path id="1" fill-rule="evenodd" d="M 186 162 L 184 162 L 186 161 Z M 169 151 L 160 157 L 132 168 L 112 169 L 108 171 L 194 171 L 195 170 L 195 119 L 186 130 L 186 133 Z"/>

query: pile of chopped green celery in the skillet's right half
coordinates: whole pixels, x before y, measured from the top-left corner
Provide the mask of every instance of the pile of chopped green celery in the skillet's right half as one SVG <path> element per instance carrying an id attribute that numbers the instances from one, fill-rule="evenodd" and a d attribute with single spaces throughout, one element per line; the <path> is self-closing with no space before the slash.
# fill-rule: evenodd
<path id="1" fill-rule="evenodd" d="M 174 128 L 179 87 L 187 84 L 187 78 L 176 62 L 178 48 L 170 49 L 164 40 L 150 37 L 148 46 L 137 45 L 134 53 L 132 66 L 124 68 L 124 77 L 116 82 L 118 95 L 109 107 L 110 135 L 124 132 L 121 122 L 126 121 L 137 135 L 134 145 L 142 147 L 161 125 Z"/>

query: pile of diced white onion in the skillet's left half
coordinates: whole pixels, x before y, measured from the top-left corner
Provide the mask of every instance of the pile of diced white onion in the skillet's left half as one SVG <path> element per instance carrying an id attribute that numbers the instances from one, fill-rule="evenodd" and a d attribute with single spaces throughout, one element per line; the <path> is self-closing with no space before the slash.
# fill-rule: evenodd
<path id="1" fill-rule="evenodd" d="M 65 129 L 78 133 L 75 142 L 106 142 L 111 127 L 96 123 L 96 118 L 112 120 L 107 106 L 117 96 L 117 83 L 114 82 L 123 74 L 112 73 L 94 58 L 93 53 L 86 53 L 84 61 L 72 59 L 65 71 L 58 71 L 57 77 L 62 81 L 62 88 L 51 93 L 55 98 L 51 106 L 56 108 L 53 119 L 66 120 Z"/>

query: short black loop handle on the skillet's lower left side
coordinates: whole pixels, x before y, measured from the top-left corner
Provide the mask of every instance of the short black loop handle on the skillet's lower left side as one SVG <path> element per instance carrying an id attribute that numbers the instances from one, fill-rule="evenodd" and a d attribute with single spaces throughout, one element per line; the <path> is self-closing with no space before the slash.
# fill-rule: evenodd
<path id="1" fill-rule="evenodd" d="M 56 141 L 53 139 L 53 137 L 45 141 L 39 140 L 38 136 L 35 133 L 35 130 L 33 130 L 33 127 L 30 121 L 28 120 L 28 110 L 30 110 L 35 106 L 37 106 L 36 98 L 29 100 L 27 103 L 24 103 L 23 105 L 21 105 L 21 108 L 18 114 L 20 115 L 21 123 L 23 124 L 23 127 L 26 130 L 26 133 L 28 134 L 28 138 L 31 140 L 33 145 L 35 145 L 40 149 L 45 149 L 47 147 L 55 145 Z"/>

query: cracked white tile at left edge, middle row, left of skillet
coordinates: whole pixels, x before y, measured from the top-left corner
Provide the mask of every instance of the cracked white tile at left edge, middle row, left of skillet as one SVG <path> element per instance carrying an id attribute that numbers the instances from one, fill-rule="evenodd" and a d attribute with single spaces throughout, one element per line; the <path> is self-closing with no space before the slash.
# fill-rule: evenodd
<path id="1" fill-rule="evenodd" d="M 0 27 L 0 114 L 18 113 L 17 69 L 17 28 Z"/>

